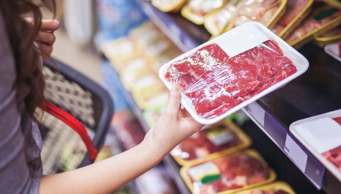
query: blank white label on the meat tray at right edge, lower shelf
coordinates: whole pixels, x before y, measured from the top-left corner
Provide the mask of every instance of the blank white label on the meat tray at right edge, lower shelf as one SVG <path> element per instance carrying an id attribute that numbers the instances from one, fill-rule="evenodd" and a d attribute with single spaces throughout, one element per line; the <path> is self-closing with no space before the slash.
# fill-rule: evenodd
<path id="1" fill-rule="evenodd" d="M 331 118 L 308 121 L 294 130 L 320 154 L 341 145 L 341 125 Z"/>

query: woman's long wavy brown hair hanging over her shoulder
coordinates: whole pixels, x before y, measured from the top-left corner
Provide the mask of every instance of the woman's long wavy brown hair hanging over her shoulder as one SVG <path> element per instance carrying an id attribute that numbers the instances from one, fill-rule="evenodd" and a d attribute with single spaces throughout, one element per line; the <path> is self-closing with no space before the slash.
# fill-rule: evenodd
<path id="1" fill-rule="evenodd" d="M 36 0 L 35 0 L 36 1 Z M 5 21 L 6 31 L 17 69 L 17 101 L 24 102 L 25 107 L 19 110 L 27 112 L 35 118 L 35 110 L 44 103 L 45 81 L 39 60 L 41 53 L 34 45 L 40 26 L 42 14 L 39 7 L 48 4 L 55 11 L 54 0 L 41 0 L 39 4 L 33 0 L 0 0 L 0 9 Z M 23 20 L 23 16 L 33 17 L 33 26 Z M 29 88 L 26 97 L 21 97 L 18 90 Z M 20 109 L 20 107 L 19 107 Z"/>

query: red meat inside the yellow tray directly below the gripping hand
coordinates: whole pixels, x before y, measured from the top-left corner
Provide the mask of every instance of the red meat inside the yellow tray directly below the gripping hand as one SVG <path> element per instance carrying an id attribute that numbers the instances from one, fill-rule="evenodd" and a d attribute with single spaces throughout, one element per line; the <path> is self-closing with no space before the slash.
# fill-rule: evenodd
<path id="1" fill-rule="evenodd" d="M 215 145 L 207 136 L 207 133 L 216 128 L 226 130 L 229 136 L 229 141 L 221 145 Z M 201 130 L 187 140 L 179 144 L 178 148 L 182 153 L 186 153 L 187 157 L 182 157 L 185 160 L 193 160 L 198 158 L 204 158 L 211 153 L 223 151 L 227 148 L 238 146 L 242 141 L 238 138 L 236 133 L 230 129 L 227 125 L 220 125 L 212 129 Z M 181 154 L 183 156 L 184 154 Z"/>

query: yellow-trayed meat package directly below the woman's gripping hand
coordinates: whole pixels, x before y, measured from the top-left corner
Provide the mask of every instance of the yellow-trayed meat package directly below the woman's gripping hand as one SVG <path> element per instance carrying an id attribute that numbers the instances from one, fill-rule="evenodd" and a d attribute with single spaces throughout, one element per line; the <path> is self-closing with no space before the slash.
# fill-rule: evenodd
<path id="1" fill-rule="evenodd" d="M 225 119 L 207 126 L 181 144 L 170 154 L 180 165 L 193 165 L 219 158 L 251 145 L 251 139 L 233 122 Z"/>

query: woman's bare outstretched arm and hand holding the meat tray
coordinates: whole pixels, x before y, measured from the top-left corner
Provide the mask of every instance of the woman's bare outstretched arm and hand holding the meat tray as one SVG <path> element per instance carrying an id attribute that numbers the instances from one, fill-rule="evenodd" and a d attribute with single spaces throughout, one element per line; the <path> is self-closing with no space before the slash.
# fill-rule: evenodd
<path id="1" fill-rule="evenodd" d="M 179 110 L 180 92 L 170 92 L 170 101 L 144 141 L 132 149 L 92 165 L 41 178 L 40 193 L 105 194 L 142 175 L 162 160 L 175 146 L 202 125 L 185 110 Z"/>

